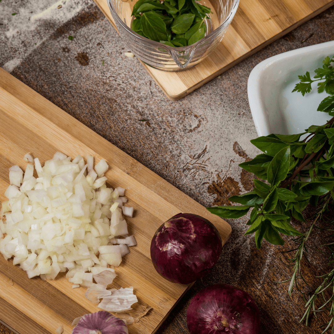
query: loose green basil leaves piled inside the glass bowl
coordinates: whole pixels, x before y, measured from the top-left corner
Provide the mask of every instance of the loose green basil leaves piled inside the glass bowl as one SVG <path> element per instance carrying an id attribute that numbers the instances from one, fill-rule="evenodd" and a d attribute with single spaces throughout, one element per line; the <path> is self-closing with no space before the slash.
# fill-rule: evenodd
<path id="1" fill-rule="evenodd" d="M 195 0 L 139 0 L 135 3 L 131 29 L 137 34 L 169 46 L 186 46 L 205 36 L 203 23 L 210 8 Z"/>

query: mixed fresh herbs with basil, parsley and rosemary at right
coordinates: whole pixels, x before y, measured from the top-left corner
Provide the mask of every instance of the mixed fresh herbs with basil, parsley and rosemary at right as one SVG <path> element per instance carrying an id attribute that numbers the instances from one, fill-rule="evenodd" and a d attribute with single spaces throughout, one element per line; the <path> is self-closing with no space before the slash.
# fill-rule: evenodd
<path id="1" fill-rule="evenodd" d="M 293 92 L 301 92 L 303 96 L 312 89 L 312 82 L 318 81 L 318 92 L 329 94 L 319 105 L 318 111 L 334 116 L 334 56 L 323 60 L 322 68 L 315 70 L 313 79 L 310 73 L 299 75 Z M 305 137 L 300 139 L 301 136 Z M 289 295 L 295 284 L 298 291 L 303 294 L 306 311 L 301 321 L 305 319 L 306 326 L 309 316 L 313 313 L 329 309 L 329 321 L 322 333 L 325 333 L 334 323 L 334 270 L 321 276 L 322 284 L 307 296 L 301 291 L 297 279 L 304 278 L 301 273 L 301 260 L 307 253 L 306 242 L 311 235 L 318 220 L 328 223 L 325 228 L 333 231 L 333 220 L 327 218 L 326 213 L 333 211 L 334 204 L 334 117 L 322 126 L 311 125 L 305 132 L 296 135 L 271 134 L 251 140 L 263 154 L 253 160 L 239 164 L 243 169 L 254 173 L 254 190 L 243 195 L 229 198 L 230 201 L 242 205 L 216 206 L 207 209 L 223 218 L 239 218 L 251 210 L 247 225 L 250 225 L 246 234 L 255 233 L 257 248 L 265 238 L 272 244 L 283 245 L 284 240 L 280 233 L 292 235 L 296 238 L 296 248 L 293 258 L 289 259 L 293 266 L 290 281 Z M 267 182 L 265 182 L 267 181 Z M 291 218 L 307 223 L 303 211 L 308 204 L 312 204 L 315 214 L 311 225 L 302 233 L 291 224 Z M 319 227 L 318 227 L 319 228 Z M 334 235 L 334 234 L 332 234 Z M 327 243 L 330 249 L 329 264 L 334 262 L 334 242 Z M 307 258 L 306 258 L 307 259 Z M 284 282 L 287 282 L 284 281 Z M 325 298 L 324 292 L 328 289 L 330 297 Z M 322 304 L 316 307 L 316 301 Z M 334 326 L 331 330 L 334 334 Z"/>

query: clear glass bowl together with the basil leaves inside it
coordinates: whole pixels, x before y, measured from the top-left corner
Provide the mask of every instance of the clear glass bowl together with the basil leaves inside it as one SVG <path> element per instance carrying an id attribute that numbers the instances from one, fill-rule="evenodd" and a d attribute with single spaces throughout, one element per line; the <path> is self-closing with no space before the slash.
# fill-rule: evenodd
<path id="1" fill-rule="evenodd" d="M 107 2 L 129 49 L 146 64 L 166 71 L 186 69 L 206 58 L 223 38 L 239 4 L 239 0 Z"/>

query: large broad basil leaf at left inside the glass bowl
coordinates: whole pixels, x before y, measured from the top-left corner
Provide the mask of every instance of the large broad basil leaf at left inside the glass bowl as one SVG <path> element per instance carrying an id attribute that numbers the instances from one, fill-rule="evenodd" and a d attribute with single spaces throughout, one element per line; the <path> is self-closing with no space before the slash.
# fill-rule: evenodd
<path id="1" fill-rule="evenodd" d="M 166 24 L 159 15 L 154 12 L 143 13 L 140 22 L 147 38 L 156 42 L 167 40 Z"/>

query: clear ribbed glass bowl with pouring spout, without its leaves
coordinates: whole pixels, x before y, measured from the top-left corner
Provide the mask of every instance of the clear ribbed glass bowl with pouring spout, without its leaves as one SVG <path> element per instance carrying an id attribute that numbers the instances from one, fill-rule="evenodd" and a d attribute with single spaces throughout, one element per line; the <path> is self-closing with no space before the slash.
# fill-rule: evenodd
<path id="1" fill-rule="evenodd" d="M 200 0 L 213 14 L 205 19 L 206 35 L 198 42 L 180 47 L 165 45 L 143 37 L 131 29 L 132 9 L 136 0 L 107 0 L 121 37 L 133 54 L 144 63 L 164 71 L 179 71 L 198 64 L 218 45 L 231 23 L 239 0 Z"/>

